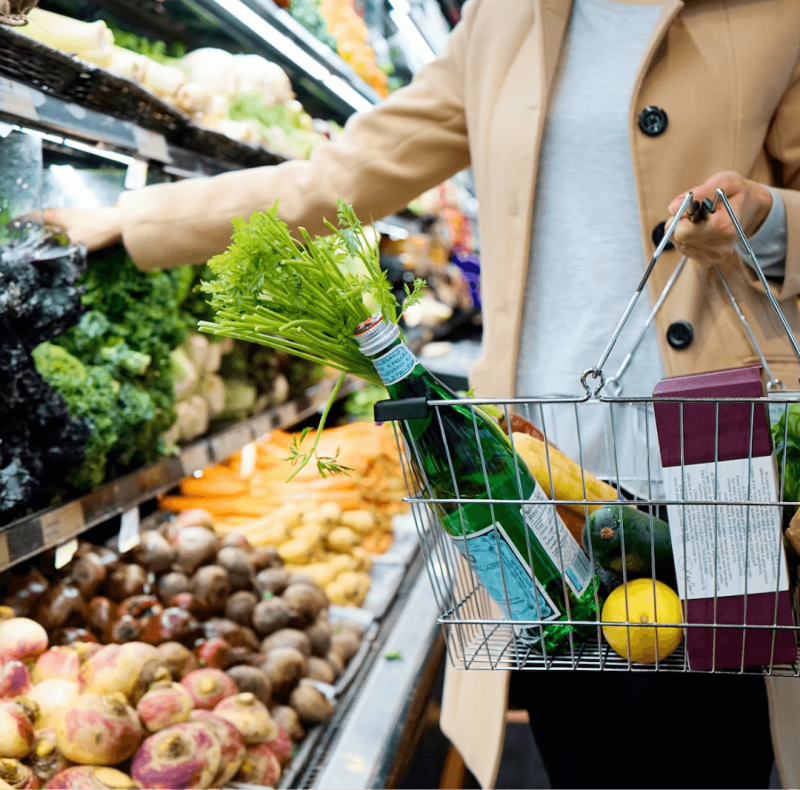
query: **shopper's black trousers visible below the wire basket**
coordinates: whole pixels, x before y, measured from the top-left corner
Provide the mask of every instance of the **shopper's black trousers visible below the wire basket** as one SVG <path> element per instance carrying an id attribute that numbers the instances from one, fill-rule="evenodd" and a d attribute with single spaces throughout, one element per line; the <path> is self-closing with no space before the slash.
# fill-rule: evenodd
<path id="1" fill-rule="evenodd" d="M 758 677 L 512 672 L 554 790 L 767 788 L 772 742 Z"/>

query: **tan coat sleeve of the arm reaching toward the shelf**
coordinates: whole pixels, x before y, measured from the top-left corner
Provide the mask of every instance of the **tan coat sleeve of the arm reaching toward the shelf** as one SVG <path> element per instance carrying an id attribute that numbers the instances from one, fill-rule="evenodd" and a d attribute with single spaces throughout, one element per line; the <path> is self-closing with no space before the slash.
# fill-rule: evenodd
<path id="1" fill-rule="evenodd" d="M 264 211 L 276 200 L 292 231 L 322 233 L 323 218 L 335 217 L 337 198 L 362 220 L 379 219 L 468 167 L 463 83 L 474 13 L 467 9 L 440 57 L 410 85 L 353 116 L 341 139 L 320 144 L 308 161 L 125 193 L 122 237 L 133 260 L 142 269 L 207 261 L 228 246 L 233 218 Z"/>

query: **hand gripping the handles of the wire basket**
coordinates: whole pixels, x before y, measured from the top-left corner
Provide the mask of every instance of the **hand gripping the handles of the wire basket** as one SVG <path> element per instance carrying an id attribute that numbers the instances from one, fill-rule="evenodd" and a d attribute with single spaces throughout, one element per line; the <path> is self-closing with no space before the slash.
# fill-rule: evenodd
<path id="1" fill-rule="evenodd" d="M 708 198 L 713 202 L 718 187 L 725 192 L 745 235 L 752 236 L 772 208 L 769 190 L 757 181 L 749 181 L 739 173 L 728 171 L 711 176 L 705 184 L 693 187 L 691 192 L 694 200 L 702 203 L 704 198 Z M 678 195 L 669 204 L 669 212 L 673 216 L 685 194 Z M 692 222 L 684 214 L 672 236 L 672 242 L 682 255 L 688 255 L 704 266 L 720 263 L 733 255 L 738 240 L 736 228 L 721 203 L 714 214 L 709 214 L 700 222 Z"/>

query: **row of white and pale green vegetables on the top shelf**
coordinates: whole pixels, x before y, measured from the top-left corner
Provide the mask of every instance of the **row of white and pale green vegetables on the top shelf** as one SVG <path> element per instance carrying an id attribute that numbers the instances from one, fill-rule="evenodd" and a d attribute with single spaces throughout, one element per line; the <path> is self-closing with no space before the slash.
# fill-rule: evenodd
<path id="1" fill-rule="evenodd" d="M 36 8 L 25 36 L 94 63 L 152 91 L 200 126 L 240 142 L 305 159 L 339 127 L 315 121 L 294 98 L 283 69 L 261 55 L 201 48 L 171 57 L 161 42 Z"/>

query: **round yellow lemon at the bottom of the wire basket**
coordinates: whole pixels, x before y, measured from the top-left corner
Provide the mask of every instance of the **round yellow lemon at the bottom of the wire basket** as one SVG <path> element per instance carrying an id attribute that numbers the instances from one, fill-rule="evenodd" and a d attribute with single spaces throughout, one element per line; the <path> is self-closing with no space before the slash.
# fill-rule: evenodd
<path id="1" fill-rule="evenodd" d="M 627 595 L 626 595 L 627 593 Z M 625 599 L 627 597 L 627 609 Z M 658 612 L 658 619 L 656 619 Z M 683 621 L 681 601 L 677 593 L 663 582 L 635 579 L 612 591 L 606 599 L 600 619 L 612 623 L 680 623 Z M 656 661 L 656 631 L 658 631 L 658 660 L 663 661 L 675 652 L 683 639 L 682 628 L 647 628 L 642 625 L 605 625 L 603 635 L 611 648 L 640 664 Z"/>

